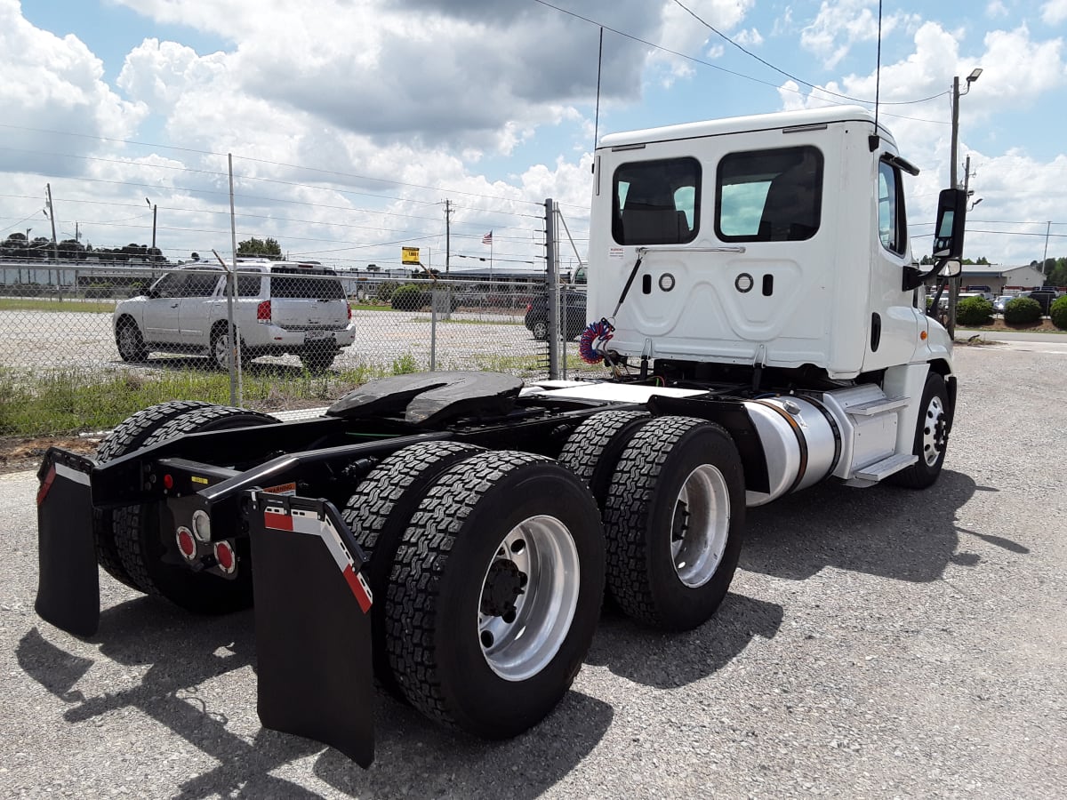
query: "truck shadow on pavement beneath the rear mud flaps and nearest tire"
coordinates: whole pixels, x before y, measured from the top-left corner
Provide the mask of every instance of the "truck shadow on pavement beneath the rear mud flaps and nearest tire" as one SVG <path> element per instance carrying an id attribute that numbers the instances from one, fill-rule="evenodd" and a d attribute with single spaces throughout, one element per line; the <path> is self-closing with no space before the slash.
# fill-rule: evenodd
<path id="1" fill-rule="evenodd" d="M 44 630 L 54 640 L 66 638 L 50 627 Z M 440 729 L 378 691 L 376 762 L 364 770 L 320 742 L 259 726 L 251 611 L 192 617 L 139 597 L 105 609 L 97 636 L 74 640 L 69 651 L 33 627 L 19 640 L 16 658 L 28 675 L 69 704 L 63 714 L 68 723 L 107 729 L 123 725 L 131 711 L 140 711 L 216 759 L 212 769 L 173 787 L 175 796 L 185 798 L 319 797 L 270 774 L 315 753 L 320 753 L 316 775 L 353 794 L 463 796 L 482 793 L 496 782 L 501 796 L 532 798 L 561 780 L 596 746 L 614 714 L 607 704 L 571 691 L 532 732 L 510 741 L 482 741 Z M 90 674 L 94 663 L 107 660 L 131 668 L 128 672 L 146 671 L 136 684 L 109 685 Z M 238 671 L 249 674 L 228 675 Z M 90 691 L 100 693 L 86 695 Z M 256 730 L 252 740 L 239 733 L 250 729 Z M 144 742 L 140 749 L 142 755 L 137 757 L 143 759 L 144 771 L 153 759 L 163 761 L 174 752 L 165 741 L 157 742 Z M 522 768 L 516 771 L 512 765 Z"/>

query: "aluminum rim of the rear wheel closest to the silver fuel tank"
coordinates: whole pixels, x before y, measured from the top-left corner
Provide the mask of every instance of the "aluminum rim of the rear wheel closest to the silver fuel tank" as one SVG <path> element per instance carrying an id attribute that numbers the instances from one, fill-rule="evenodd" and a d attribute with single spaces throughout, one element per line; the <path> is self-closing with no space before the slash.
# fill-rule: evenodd
<path id="1" fill-rule="evenodd" d="M 671 514 L 671 563 L 690 589 L 715 575 L 730 537 L 730 490 L 715 466 L 701 464 L 685 479 Z"/>

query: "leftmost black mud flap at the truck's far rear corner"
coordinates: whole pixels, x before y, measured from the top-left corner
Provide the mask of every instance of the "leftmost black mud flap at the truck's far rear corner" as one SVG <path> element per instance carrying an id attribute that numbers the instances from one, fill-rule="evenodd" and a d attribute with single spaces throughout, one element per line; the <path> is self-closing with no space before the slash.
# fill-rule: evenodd
<path id="1" fill-rule="evenodd" d="M 93 539 L 92 459 L 48 448 L 37 471 L 37 602 L 41 619 L 75 636 L 100 624 L 100 576 Z"/>

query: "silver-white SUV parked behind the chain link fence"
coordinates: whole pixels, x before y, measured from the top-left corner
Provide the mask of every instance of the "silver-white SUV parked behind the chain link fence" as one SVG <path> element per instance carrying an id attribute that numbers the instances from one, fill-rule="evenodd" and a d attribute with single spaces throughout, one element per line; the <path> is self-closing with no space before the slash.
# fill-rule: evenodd
<path id="1" fill-rule="evenodd" d="M 118 355 L 139 362 L 153 351 L 207 354 L 228 369 L 227 305 L 221 268 L 197 262 L 168 272 L 144 294 L 115 306 Z M 237 259 L 234 325 L 242 359 L 296 353 L 315 372 L 355 339 L 352 309 L 336 274 L 292 261 Z"/>

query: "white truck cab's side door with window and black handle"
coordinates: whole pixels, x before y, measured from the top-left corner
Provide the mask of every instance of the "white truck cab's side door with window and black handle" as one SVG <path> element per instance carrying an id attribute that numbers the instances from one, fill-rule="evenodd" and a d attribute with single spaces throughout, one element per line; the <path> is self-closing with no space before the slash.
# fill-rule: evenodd
<path id="1" fill-rule="evenodd" d="M 902 288 L 904 268 L 911 263 L 901 169 L 886 158 L 878 162 L 878 239 L 872 242 L 869 327 L 863 369 L 907 364 L 925 324 L 912 304 L 912 292 Z"/>

